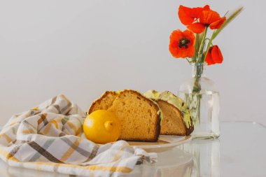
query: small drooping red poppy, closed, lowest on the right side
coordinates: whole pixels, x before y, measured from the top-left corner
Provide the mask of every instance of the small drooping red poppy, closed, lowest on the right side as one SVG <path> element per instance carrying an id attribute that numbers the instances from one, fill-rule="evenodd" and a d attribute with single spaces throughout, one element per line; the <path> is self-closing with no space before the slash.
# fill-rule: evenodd
<path id="1" fill-rule="evenodd" d="M 223 62 L 223 55 L 221 50 L 218 48 L 218 45 L 214 45 L 209 48 L 205 62 L 207 62 L 208 65 Z"/>

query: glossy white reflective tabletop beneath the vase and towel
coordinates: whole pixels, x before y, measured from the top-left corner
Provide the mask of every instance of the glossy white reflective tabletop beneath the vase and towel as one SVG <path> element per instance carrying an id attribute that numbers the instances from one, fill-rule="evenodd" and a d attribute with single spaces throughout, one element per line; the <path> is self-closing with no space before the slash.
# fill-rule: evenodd
<path id="1" fill-rule="evenodd" d="M 0 160 L 0 176 L 69 175 L 8 167 Z M 141 164 L 125 176 L 264 177 L 266 127 L 255 122 L 222 122 L 219 139 L 193 140 L 172 150 L 159 152 L 157 164 Z"/>

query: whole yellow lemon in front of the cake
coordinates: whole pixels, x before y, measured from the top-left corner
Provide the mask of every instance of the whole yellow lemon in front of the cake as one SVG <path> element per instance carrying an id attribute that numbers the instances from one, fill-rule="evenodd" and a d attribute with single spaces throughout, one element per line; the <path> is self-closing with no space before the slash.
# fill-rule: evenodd
<path id="1" fill-rule="evenodd" d="M 83 131 L 87 139 L 94 143 L 117 141 L 121 132 L 120 120 L 110 111 L 97 110 L 87 115 Z"/>

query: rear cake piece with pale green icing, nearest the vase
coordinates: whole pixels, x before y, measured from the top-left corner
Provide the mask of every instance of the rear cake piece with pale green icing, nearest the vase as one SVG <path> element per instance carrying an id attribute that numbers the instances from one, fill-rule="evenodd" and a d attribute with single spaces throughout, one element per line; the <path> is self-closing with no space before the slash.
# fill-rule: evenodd
<path id="1" fill-rule="evenodd" d="M 171 92 L 148 90 L 144 96 L 157 102 L 162 110 L 161 133 L 165 135 L 190 135 L 193 123 L 186 103 Z"/>

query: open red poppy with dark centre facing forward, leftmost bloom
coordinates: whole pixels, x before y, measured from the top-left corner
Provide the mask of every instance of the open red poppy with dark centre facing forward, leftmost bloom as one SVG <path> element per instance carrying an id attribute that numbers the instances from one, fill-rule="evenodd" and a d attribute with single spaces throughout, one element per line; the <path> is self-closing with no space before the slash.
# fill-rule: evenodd
<path id="1" fill-rule="evenodd" d="M 192 31 L 174 30 L 170 36 L 169 51 L 176 58 L 193 57 L 195 54 L 195 35 Z"/>

